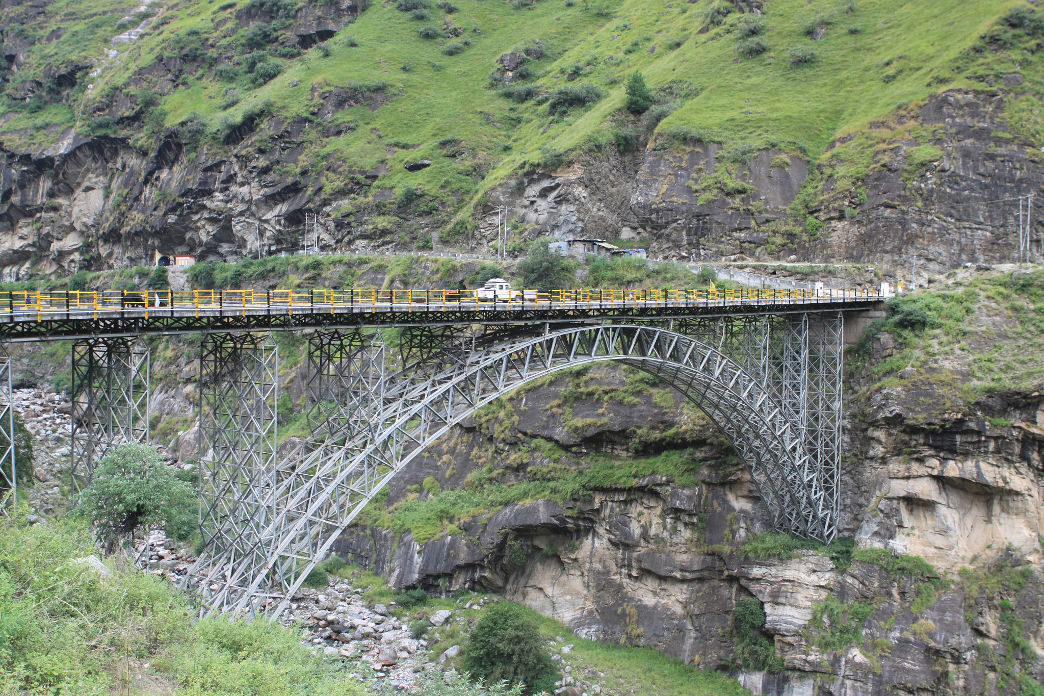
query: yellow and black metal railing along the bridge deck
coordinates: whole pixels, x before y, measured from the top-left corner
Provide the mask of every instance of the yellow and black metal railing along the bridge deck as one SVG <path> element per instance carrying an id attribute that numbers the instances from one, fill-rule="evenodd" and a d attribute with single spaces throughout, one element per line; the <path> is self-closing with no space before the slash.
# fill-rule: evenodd
<path id="1" fill-rule="evenodd" d="M 481 308 L 570 305 L 613 307 L 666 303 L 770 303 L 875 301 L 877 290 L 550 290 L 512 291 L 512 297 L 487 299 L 477 290 L 52 290 L 0 291 L 0 315 L 15 312 L 99 312 L 119 310 L 193 309 L 257 310 L 308 308 L 388 308 L 420 311 L 458 307 Z"/>

